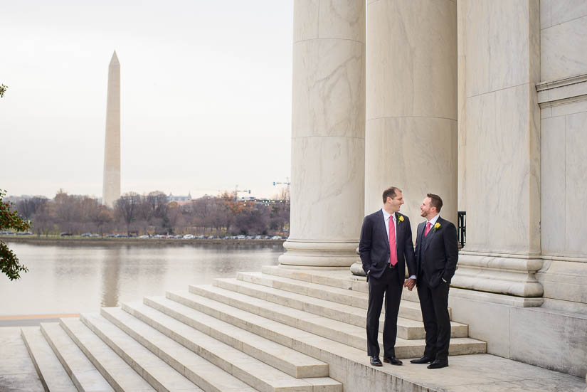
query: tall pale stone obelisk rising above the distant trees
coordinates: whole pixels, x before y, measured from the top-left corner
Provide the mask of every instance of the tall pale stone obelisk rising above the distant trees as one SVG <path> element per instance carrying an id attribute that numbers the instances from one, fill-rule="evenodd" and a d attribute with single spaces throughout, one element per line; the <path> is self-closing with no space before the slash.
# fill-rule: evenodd
<path id="1" fill-rule="evenodd" d="M 102 203 L 112 207 L 118 198 L 120 198 L 120 63 L 115 51 L 108 65 Z"/>

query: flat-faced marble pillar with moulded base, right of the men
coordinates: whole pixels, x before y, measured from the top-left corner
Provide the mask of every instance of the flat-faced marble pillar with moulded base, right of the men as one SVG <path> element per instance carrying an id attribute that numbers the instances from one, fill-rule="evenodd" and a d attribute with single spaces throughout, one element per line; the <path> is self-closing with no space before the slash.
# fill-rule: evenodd
<path id="1" fill-rule="evenodd" d="M 452 285 L 527 298 L 542 287 L 539 0 L 459 0 L 460 187 L 467 243 Z M 466 171 L 464 170 L 466 168 Z"/>

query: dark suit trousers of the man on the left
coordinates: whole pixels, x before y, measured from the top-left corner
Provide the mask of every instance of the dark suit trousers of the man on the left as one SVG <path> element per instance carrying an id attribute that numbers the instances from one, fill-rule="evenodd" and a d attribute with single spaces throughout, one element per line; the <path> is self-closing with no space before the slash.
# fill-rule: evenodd
<path id="1" fill-rule="evenodd" d="M 386 268 L 379 279 L 369 277 L 369 307 L 367 309 L 367 355 L 379 356 L 379 317 L 385 297 L 384 356 L 396 356 L 398 311 L 403 278 L 397 268 Z"/>

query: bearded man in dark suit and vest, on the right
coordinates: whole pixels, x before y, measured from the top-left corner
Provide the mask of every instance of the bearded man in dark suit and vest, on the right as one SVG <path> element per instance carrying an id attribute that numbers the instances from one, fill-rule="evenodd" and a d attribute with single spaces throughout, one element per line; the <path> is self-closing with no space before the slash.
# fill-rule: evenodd
<path id="1" fill-rule="evenodd" d="M 426 347 L 420 359 L 412 364 L 430 364 L 428 369 L 448 366 L 450 317 L 448 289 L 458 261 L 457 228 L 440 218 L 443 200 L 428 194 L 420 206 L 426 221 L 418 225 L 416 262 L 418 263 L 418 297 L 426 331 Z"/>

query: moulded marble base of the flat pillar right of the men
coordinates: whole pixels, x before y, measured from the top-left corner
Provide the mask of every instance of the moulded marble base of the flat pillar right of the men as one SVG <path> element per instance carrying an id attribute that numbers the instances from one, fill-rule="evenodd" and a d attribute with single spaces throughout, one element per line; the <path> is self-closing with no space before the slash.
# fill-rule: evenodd
<path id="1" fill-rule="evenodd" d="M 458 270 L 450 285 L 467 290 L 527 298 L 527 302 L 539 306 L 541 302 L 536 302 L 535 299 L 542 297 L 544 289 L 536 280 L 536 271 L 541 267 L 542 260 L 539 256 L 461 250 Z"/>

